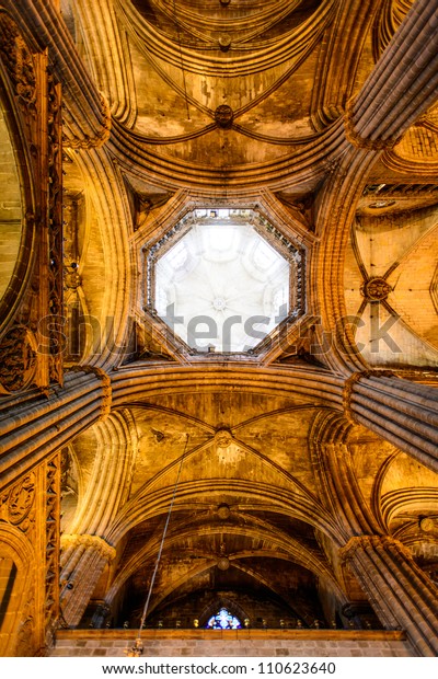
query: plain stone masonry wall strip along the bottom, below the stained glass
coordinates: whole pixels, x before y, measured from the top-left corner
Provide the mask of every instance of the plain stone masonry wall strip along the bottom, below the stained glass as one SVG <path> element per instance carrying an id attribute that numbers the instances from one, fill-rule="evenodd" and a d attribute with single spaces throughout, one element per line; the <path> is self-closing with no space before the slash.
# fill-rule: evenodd
<path id="1" fill-rule="evenodd" d="M 135 630 L 62 630 L 58 657 L 126 657 Z M 414 656 L 403 632 L 346 630 L 146 630 L 142 657 L 403 657 Z"/>

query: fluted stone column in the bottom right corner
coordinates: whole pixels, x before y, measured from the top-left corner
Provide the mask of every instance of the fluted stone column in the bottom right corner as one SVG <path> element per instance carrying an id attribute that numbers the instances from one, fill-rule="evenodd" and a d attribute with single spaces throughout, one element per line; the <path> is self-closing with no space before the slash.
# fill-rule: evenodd
<path id="1" fill-rule="evenodd" d="M 380 621 L 403 629 L 418 655 L 438 655 L 438 588 L 390 537 L 351 538 L 341 550 Z"/>

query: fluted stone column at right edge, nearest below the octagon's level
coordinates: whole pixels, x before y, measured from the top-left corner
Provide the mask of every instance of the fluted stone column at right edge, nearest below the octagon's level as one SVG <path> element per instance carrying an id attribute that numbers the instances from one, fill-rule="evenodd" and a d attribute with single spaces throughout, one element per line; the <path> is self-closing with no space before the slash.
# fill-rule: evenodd
<path id="1" fill-rule="evenodd" d="M 438 471 L 438 389 L 370 370 L 345 384 L 347 418 Z"/>

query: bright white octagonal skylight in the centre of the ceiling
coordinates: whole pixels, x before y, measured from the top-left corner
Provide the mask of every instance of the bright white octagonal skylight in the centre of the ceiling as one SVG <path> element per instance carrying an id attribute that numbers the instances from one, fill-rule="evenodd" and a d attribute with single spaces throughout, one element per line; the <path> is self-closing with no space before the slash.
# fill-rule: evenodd
<path id="1" fill-rule="evenodd" d="M 290 313 L 289 253 L 254 215 L 194 210 L 158 248 L 153 307 L 192 349 L 252 350 Z"/>

